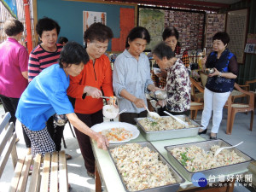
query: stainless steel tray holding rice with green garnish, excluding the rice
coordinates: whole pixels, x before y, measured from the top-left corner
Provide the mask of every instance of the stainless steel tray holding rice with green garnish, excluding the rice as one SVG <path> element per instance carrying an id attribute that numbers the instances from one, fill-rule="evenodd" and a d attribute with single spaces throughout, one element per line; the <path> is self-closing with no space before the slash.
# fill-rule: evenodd
<path id="1" fill-rule="evenodd" d="M 195 174 L 195 172 L 189 172 L 172 154 L 171 154 L 171 150 L 173 148 L 181 148 L 181 147 L 190 147 L 192 145 L 195 145 L 197 147 L 201 147 L 202 149 L 204 149 L 205 151 L 209 151 L 210 148 L 212 147 L 212 145 L 219 145 L 220 147 L 230 147 L 230 143 L 226 143 L 224 142 L 224 140 L 222 139 L 217 139 L 217 140 L 208 140 L 208 141 L 204 141 L 204 142 L 196 142 L 196 143 L 184 143 L 184 144 L 178 144 L 178 145 L 170 145 L 170 146 L 166 146 L 166 150 L 167 150 L 167 154 L 169 159 L 172 162 L 172 165 L 177 168 L 178 171 L 180 171 L 183 175 L 183 177 L 185 177 L 186 179 L 188 179 L 189 181 L 191 181 L 191 177 Z M 224 175 L 229 175 L 229 174 L 233 174 L 236 172 L 243 172 L 246 171 L 247 166 L 249 165 L 249 163 L 251 161 L 253 161 L 253 158 L 249 157 L 247 154 L 242 153 L 240 150 L 238 150 L 237 148 L 230 148 L 227 150 L 234 150 L 236 152 L 236 154 L 238 154 L 239 156 L 243 157 L 246 161 L 241 162 L 241 163 L 237 163 L 237 164 L 233 164 L 230 166 L 220 166 L 217 168 L 212 168 L 212 169 L 208 169 L 205 171 L 201 171 L 201 173 L 203 173 L 207 178 L 210 175 L 214 175 L 216 177 L 218 177 L 218 175 L 220 174 L 224 174 Z"/>

